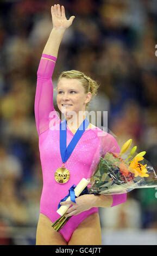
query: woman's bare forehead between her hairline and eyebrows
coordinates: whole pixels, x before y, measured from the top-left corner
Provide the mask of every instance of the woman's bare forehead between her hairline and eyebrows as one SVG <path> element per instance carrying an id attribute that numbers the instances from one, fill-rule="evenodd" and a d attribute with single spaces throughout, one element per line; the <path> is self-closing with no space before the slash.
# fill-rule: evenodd
<path id="1" fill-rule="evenodd" d="M 76 78 L 61 78 L 58 82 L 58 89 L 76 88 L 82 89 L 82 83 Z"/>

